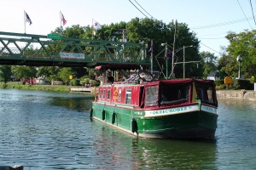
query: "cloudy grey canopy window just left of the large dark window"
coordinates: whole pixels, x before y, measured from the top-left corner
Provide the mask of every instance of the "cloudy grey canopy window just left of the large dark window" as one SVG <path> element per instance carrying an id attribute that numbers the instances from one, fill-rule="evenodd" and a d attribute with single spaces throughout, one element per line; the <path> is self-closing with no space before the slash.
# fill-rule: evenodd
<path id="1" fill-rule="evenodd" d="M 158 86 L 147 87 L 145 105 L 158 104 Z"/>

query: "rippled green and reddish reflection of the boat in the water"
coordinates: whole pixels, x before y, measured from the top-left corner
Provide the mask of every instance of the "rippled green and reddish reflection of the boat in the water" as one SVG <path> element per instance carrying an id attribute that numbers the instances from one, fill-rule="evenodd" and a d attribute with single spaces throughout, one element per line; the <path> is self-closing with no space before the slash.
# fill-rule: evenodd
<path id="1" fill-rule="evenodd" d="M 120 169 L 216 169 L 216 143 L 137 139 L 101 122 L 96 133 L 94 167 Z M 94 158 L 93 158 L 94 159 Z"/>

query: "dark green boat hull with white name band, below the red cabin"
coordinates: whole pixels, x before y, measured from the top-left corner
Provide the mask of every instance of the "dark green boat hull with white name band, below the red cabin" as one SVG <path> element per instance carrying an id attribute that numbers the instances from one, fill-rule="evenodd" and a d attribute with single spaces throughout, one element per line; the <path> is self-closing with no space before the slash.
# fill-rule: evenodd
<path id="1" fill-rule="evenodd" d="M 139 137 L 214 139 L 218 118 L 214 111 L 202 111 L 199 105 L 142 111 L 94 102 L 90 116 Z"/>

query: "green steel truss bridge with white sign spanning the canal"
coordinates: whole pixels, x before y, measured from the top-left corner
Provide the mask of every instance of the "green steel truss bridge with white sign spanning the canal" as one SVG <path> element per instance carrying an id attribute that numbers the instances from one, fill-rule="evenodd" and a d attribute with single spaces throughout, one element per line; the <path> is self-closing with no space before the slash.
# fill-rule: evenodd
<path id="1" fill-rule="evenodd" d="M 0 65 L 150 65 L 145 44 L 0 31 Z"/>

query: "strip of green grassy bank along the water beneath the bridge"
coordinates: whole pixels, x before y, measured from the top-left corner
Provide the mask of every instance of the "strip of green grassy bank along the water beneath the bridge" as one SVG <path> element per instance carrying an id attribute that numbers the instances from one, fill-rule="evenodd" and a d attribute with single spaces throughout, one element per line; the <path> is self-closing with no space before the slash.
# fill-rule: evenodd
<path id="1" fill-rule="evenodd" d="M 4 84 L 0 82 L 0 88 L 15 88 L 22 90 L 44 90 L 53 92 L 70 92 L 72 86 L 65 85 L 37 85 L 37 84 L 26 84 L 23 85 L 21 82 L 7 82 Z"/>

